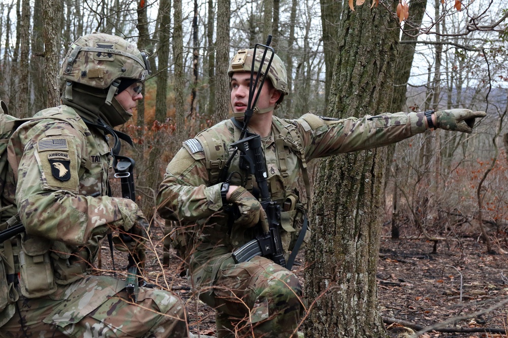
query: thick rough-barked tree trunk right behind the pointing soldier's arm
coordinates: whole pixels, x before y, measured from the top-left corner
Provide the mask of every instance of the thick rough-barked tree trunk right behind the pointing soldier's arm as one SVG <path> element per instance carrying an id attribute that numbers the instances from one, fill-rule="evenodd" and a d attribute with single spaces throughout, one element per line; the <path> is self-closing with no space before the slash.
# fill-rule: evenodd
<path id="1" fill-rule="evenodd" d="M 357 6 L 356 12 L 344 7 L 327 115 L 386 111 L 397 22 L 382 6 Z M 308 304 L 315 301 L 307 338 L 386 336 L 376 287 L 385 159 L 386 149 L 377 148 L 319 163 L 309 217 L 315 246 L 306 251 L 305 290 Z"/>

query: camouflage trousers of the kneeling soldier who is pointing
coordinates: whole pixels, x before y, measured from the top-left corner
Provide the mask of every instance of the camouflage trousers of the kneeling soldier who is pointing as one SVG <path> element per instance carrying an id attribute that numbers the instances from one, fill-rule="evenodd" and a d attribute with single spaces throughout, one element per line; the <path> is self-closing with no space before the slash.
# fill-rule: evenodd
<path id="1" fill-rule="evenodd" d="M 289 270 L 254 257 L 235 264 L 226 248 L 196 251 L 188 276 L 201 301 L 217 310 L 217 337 L 297 337 L 302 287 Z"/>

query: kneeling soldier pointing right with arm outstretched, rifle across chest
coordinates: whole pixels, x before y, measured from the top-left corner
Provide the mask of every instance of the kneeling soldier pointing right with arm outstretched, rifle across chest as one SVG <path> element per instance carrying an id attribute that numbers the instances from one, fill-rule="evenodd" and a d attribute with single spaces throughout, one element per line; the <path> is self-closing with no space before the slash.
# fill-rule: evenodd
<path id="1" fill-rule="evenodd" d="M 259 71 L 262 52 L 258 49 L 255 71 Z M 237 119 L 243 118 L 247 108 L 252 58 L 253 50 L 240 50 L 228 71 Z M 282 210 L 280 235 L 286 258 L 297 242 L 308 207 L 300 202 L 297 191 L 297 179 L 302 173 L 305 177 L 308 161 L 395 143 L 425 132 L 429 123 L 433 128 L 470 133 L 474 118 L 485 116 L 485 112 L 452 109 L 362 119 L 313 114 L 279 119 L 273 110 L 289 94 L 280 58 L 274 55 L 268 71 L 263 64 L 262 73 L 269 81 L 261 89 L 248 129 L 262 137 L 271 198 Z M 217 310 L 218 337 L 296 337 L 304 310 L 298 278 L 264 257 L 239 264 L 232 258 L 235 249 L 255 238 L 255 226 L 266 217 L 253 196 L 256 182 L 239 168 L 238 154 L 228 170 L 230 183 L 218 180 L 230 157 L 230 144 L 239 136 L 239 127 L 226 120 L 185 141 L 167 167 L 157 195 L 158 212 L 180 222 L 173 244 L 187 249 L 188 279 L 201 300 Z M 232 219 L 231 208 L 238 209 L 238 218 Z M 304 244 L 309 237 L 309 232 L 303 235 Z"/>

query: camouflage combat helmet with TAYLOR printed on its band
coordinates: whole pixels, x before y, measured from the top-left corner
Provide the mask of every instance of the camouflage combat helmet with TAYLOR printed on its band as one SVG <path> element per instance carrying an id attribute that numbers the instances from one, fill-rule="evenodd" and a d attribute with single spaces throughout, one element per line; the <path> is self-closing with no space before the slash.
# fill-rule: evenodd
<path id="1" fill-rule="evenodd" d="M 145 52 L 119 36 L 91 33 L 76 40 L 63 60 L 59 76 L 65 96 L 72 99 L 72 84 L 108 89 L 110 105 L 121 79 L 144 81 L 150 74 Z"/>

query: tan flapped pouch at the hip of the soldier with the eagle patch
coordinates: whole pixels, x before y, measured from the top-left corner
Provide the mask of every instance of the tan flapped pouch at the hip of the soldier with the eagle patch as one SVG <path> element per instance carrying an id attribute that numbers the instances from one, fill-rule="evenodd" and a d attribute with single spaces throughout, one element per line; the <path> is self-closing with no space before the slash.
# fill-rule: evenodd
<path id="1" fill-rule="evenodd" d="M 19 284 L 27 298 L 37 298 L 56 291 L 56 283 L 49 258 L 50 243 L 42 238 L 30 237 L 19 243 Z"/>

